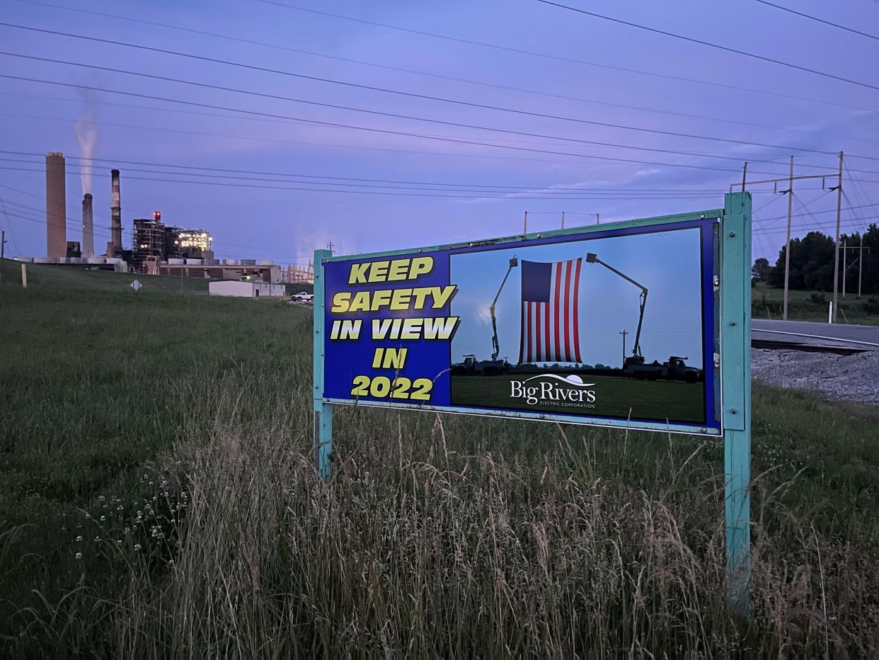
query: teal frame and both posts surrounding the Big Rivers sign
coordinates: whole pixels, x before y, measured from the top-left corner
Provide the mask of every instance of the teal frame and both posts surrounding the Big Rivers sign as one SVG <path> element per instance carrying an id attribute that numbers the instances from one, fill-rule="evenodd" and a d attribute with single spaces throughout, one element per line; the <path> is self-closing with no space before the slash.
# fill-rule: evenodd
<path id="1" fill-rule="evenodd" d="M 412 253 L 432 253 L 461 249 L 475 245 L 498 246 L 505 243 L 518 244 L 528 240 L 565 237 L 574 234 L 608 230 L 649 228 L 657 225 L 694 221 L 699 218 L 717 218 L 715 241 L 714 296 L 715 316 L 714 373 L 716 389 L 716 416 L 722 421 L 720 429 L 694 429 L 692 425 L 657 423 L 640 420 L 620 421 L 590 418 L 576 420 L 592 425 L 646 429 L 694 435 L 723 436 L 725 478 L 725 527 L 727 552 L 728 597 L 739 612 L 748 613 L 751 575 L 750 560 L 750 510 L 749 483 L 751 480 L 751 194 L 747 192 L 725 195 L 723 209 L 708 209 L 676 216 L 658 216 L 621 223 L 578 227 L 560 231 L 541 231 L 525 235 L 498 238 L 479 243 L 396 250 L 383 253 L 358 254 L 333 257 L 329 250 L 316 250 L 314 257 L 314 437 L 315 460 L 318 473 L 324 480 L 331 478 L 332 414 L 336 405 L 367 405 L 387 407 L 387 402 L 352 401 L 334 399 L 325 395 L 324 347 L 326 337 L 325 299 L 326 272 L 328 264 L 339 260 L 369 260 Z M 406 405 L 440 412 L 464 412 L 467 414 L 498 414 L 490 409 L 450 410 L 429 405 Z M 523 419 L 540 419 L 554 422 L 574 422 L 570 415 L 529 414 L 507 411 L 504 416 Z"/>

